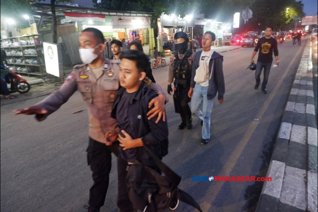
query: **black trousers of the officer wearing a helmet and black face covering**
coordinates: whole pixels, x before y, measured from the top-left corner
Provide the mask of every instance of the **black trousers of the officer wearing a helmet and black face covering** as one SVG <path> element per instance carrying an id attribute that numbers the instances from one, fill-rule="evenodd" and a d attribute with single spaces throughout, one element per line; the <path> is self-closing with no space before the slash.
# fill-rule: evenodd
<path id="1" fill-rule="evenodd" d="M 174 86 L 175 86 L 175 82 L 174 82 Z M 191 109 L 189 106 L 189 102 L 191 101 L 191 98 L 188 96 L 188 92 L 190 90 L 190 83 L 187 83 L 187 86 L 184 87 L 182 84 L 178 84 L 177 87 L 178 91 L 179 91 L 179 96 L 178 98 L 178 108 L 181 108 L 181 110 L 179 110 L 180 116 L 181 116 L 181 120 L 182 121 L 186 121 L 186 118 L 190 118 L 191 117 Z"/>

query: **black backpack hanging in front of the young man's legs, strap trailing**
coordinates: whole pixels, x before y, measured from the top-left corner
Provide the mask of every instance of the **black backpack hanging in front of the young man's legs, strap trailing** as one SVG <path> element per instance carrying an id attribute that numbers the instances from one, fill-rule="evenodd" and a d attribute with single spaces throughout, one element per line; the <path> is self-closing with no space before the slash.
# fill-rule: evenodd
<path id="1" fill-rule="evenodd" d="M 202 212 L 199 204 L 190 195 L 177 188 L 181 177 L 161 162 L 147 146 L 144 147 L 164 175 L 135 160 L 129 167 L 126 177 L 128 195 L 133 208 L 142 212 L 162 212 L 178 198 L 179 201 Z"/>

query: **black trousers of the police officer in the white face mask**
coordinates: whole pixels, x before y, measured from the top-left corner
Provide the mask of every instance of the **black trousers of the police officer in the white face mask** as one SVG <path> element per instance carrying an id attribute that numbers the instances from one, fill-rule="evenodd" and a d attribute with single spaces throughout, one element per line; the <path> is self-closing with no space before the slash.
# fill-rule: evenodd
<path id="1" fill-rule="evenodd" d="M 89 138 L 87 147 L 87 162 L 93 172 L 94 184 L 89 189 L 89 206 L 99 208 L 105 203 L 106 193 L 109 185 L 109 172 L 111 169 L 111 153 L 118 156 L 119 142 L 110 146 Z"/>

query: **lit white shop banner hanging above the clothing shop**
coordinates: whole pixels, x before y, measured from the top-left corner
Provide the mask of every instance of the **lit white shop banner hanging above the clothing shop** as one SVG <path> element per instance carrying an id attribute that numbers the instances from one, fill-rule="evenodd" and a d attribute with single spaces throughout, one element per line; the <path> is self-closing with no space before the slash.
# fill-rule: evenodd
<path id="1" fill-rule="evenodd" d="M 139 16 L 111 16 L 113 29 L 115 28 L 150 28 L 149 17 Z"/>

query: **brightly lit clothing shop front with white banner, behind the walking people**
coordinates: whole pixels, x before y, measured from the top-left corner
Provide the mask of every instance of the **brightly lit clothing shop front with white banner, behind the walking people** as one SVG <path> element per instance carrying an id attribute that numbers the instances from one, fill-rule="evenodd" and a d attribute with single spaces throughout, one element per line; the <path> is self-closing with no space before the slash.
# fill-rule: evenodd
<path id="1" fill-rule="evenodd" d="M 124 16 L 124 15 L 101 15 L 89 13 L 65 12 L 66 20 L 76 21 L 78 31 L 88 27 L 99 29 L 106 40 L 105 56 L 112 56 L 110 41 L 125 39 L 127 48 L 131 42 L 140 42 L 144 53 L 153 55 L 155 47 L 154 30 L 150 25 L 150 17 L 145 16 Z"/>

